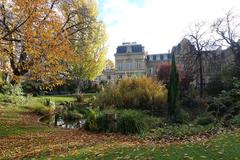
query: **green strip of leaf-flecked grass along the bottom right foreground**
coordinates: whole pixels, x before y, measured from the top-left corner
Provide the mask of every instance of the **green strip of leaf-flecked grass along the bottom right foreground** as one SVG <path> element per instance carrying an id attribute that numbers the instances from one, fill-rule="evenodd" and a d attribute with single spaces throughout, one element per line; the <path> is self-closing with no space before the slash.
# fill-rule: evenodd
<path id="1" fill-rule="evenodd" d="M 240 130 L 218 136 L 202 144 L 190 143 L 169 147 L 116 145 L 102 153 L 97 152 L 99 148 L 101 146 L 83 148 L 79 150 L 78 155 L 66 156 L 63 159 L 238 160 L 240 159 Z"/>

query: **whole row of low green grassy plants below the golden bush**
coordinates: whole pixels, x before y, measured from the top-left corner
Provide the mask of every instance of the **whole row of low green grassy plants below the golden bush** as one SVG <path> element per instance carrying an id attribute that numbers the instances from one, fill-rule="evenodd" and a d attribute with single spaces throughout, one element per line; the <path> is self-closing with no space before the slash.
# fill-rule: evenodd
<path id="1" fill-rule="evenodd" d="M 135 110 L 89 109 L 85 129 L 95 132 L 119 132 L 121 134 L 138 134 L 145 130 L 163 126 L 156 117 L 148 116 Z"/>

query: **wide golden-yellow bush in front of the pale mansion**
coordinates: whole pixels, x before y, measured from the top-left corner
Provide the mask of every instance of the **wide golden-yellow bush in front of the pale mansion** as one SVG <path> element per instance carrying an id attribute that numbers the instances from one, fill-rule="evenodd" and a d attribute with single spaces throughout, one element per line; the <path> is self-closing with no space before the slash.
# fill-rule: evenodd
<path id="1" fill-rule="evenodd" d="M 148 77 L 125 78 L 105 88 L 97 96 L 99 106 L 130 109 L 161 108 L 167 99 L 167 89 L 161 82 Z"/>

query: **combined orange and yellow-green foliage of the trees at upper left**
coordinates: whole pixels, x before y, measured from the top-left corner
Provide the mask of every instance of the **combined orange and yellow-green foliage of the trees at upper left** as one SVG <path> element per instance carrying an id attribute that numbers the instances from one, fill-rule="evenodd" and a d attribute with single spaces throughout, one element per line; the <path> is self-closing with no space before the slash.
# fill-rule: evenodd
<path id="1" fill-rule="evenodd" d="M 11 80 L 62 84 L 70 66 L 79 65 L 93 79 L 105 58 L 105 28 L 97 15 L 92 0 L 1 0 L 0 54 Z"/>

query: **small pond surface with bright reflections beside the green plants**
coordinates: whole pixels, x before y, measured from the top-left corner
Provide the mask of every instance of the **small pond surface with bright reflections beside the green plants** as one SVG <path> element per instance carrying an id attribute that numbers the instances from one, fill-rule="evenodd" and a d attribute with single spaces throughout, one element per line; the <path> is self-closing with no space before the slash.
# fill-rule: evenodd
<path id="1" fill-rule="evenodd" d="M 40 122 L 43 122 L 48 125 L 54 125 L 62 128 L 74 129 L 74 128 L 82 128 L 86 123 L 85 119 L 81 120 L 64 120 L 58 115 L 48 115 L 44 116 L 40 119 Z"/>

